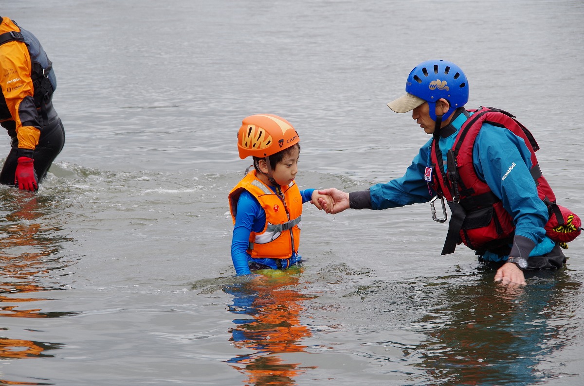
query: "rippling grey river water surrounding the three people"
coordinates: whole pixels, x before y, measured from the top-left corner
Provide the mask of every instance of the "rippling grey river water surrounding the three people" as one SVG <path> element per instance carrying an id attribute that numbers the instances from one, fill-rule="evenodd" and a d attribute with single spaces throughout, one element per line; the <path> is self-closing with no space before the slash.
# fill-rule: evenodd
<path id="1" fill-rule="evenodd" d="M 427 141 L 385 103 L 426 59 L 511 111 L 584 215 L 582 1 L 2 0 L 54 62 L 67 143 L 37 194 L 0 188 L 0 384 L 584 383 L 584 246 L 493 285 L 427 204 L 304 206 L 305 264 L 235 278 L 242 118 L 302 139 L 301 188 L 399 177 Z M 8 136 L 0 154 L 8 153 Z M 584 238 L 583 238 L 584 240 Z"/>

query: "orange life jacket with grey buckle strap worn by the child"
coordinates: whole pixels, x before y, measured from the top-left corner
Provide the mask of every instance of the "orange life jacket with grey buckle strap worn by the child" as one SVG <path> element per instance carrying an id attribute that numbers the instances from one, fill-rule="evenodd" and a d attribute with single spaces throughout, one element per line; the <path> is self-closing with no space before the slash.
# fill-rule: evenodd
<path id="1" fill-rule="evenodd" d="M 249 235 L 248 253 L 253 258 L 287 259 L 298 252 L 300 244 L 300 219 L 302 196 L 293 181 L 288 186 L 277 187 L 274 193 L 250 171 L 229 194 L 229 209 L 233 223 L 237 215 L 237 202 L 242 191 L 250 192 L 266 212 L 266 224 L 259 233 Z"/>

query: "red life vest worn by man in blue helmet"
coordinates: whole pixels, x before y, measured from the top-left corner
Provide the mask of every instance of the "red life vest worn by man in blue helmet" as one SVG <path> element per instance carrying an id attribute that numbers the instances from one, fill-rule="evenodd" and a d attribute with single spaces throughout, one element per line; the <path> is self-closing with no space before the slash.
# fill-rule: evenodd
<path id="1" fill-rule="evenodd" d="M 531 176 L 536 181 L 539 197 L 548 208 L 557 209 L 555 195 L 541 174 L 536 158 L 539 146 L 527 128 L 515 120 L 513 115 L 503 110 L 480 107 L 468 112 L 472 115 L 458 131 L 457 138 L 447 154 L 447 171 L 444 172 L 442 153 L 436 140 L 433 142 L 430 155 L 435 176 L 432 178 L 431 186 L 439 196 L 446 198 L 452 212 L 449 234 L 442 254 L 454 252 L 454 248 L 460 243 L 475 251 L 488 250 L 508 254 L 509 244 L 513 243 L 515 232 L 513 217 L 503 208 L 503 203 L 493 194 L 489 186 L 477 176 L 472 162 L 472 149 L 482 125 L 504 127 L 523 138 L 531 152 L 533 164 Z M 514 166 L 512 164 L 510 169 Z"/>

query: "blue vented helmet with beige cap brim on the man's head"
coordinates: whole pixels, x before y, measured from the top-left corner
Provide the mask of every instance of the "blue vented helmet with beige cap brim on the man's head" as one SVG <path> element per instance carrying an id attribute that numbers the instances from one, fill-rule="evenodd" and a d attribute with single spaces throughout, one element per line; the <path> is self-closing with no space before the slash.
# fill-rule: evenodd
<path id="1" fill-rule="evenodd" d="M 407 113 L 426 101 L 430 118 L 436 121 L 436 101 L 444 98 L 450 103 L 443 115 L 446 119 L 468 101 L 468 80 L 463 70 L 453 62 L 429 60 L 415 66 L 405 85 L 408 94 L 387 104 L 396 113 Z"/>

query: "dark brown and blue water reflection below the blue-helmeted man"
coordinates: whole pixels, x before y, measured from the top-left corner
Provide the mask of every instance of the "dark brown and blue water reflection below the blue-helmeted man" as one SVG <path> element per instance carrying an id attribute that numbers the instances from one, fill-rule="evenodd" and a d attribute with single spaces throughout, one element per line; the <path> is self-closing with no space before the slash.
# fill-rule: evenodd
<path id="1" fill-rule="evenodd" d="M 493 285 L 493 276 L 434 288 L 443 304 L 417 326 L 431 339 L 420 346 L 423 360 L 415 364 L 432 384 L 524 385 L 562 375 L 543 374 L 538 365 L 569 345 L 565 329 L 579 328 L 570 326 L 564 308 L 581 283 L 564 270 L 537 271 L 526 275 L 528 286 L 510 289 Z"/>

